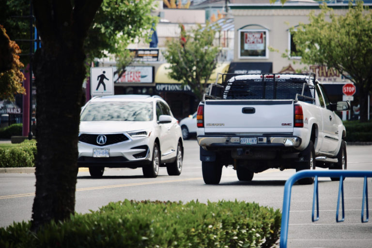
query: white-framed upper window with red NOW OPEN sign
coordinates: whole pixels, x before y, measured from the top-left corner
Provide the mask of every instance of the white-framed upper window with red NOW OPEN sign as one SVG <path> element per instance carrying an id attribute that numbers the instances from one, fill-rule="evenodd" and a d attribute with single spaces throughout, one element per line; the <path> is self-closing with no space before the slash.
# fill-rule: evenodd
<path id="1" fill-rule="evenodd" d="M 239 30 L 240 59 L 268 59 L 268 30 Z"/>

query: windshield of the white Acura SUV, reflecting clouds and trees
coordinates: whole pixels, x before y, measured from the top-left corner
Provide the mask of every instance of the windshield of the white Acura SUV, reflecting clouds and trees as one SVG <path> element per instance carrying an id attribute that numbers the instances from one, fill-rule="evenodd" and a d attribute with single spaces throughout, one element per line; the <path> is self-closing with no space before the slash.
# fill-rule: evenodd
<path id="1" fill-rule="evenodd" d="M 80 121 L 133 121 L 153 119 L 152 102 L 93 102 L 85 107 Z"/>

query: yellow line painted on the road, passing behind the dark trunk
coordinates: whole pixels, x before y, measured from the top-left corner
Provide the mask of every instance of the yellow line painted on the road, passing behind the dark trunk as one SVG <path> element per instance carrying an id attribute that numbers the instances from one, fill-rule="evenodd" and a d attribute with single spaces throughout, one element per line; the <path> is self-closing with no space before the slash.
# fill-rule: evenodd
<path id="1" fill-rule="evenodd" d="M 195 178 L 188 178 L 188 179 L 176 179 L 176 180 L 143 182 L 143 183 L 133 183 L 133 184 L 120 184 L 120 185 L 109 185 L 109 186 L 97 186 L 97 187 L 78 188 L 78 189 L 76 189 L 76 191 L 86 191 L 86 190 L 106 189 L 106 188 L 118 188 L 118 187 L 128 187 L 128 186 L 142 186 L 142 185 L 152 185 L 152 184 L 166 184 L 166 183 L 194 181 L 194 180 L 201 180 L 201 179 L 202 179 L 202 177 L 195 177 Z M 18 198 L 18 197 L 28 197 L 28 196 L 35 196 L 35 193 L 0 196 L 0 200 L 1 199 Z"/>

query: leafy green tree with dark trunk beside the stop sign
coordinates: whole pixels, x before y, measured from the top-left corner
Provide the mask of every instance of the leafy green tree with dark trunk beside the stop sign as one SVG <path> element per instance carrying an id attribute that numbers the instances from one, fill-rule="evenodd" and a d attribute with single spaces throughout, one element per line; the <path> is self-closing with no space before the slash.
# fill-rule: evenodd
<path id="1" fill-rule="evenodd" d="M 350 78 L 359 87 L 361 121 L 366 121 L 367 97 L 372 93 L 372 12 L 362 1 L 350 3 L 344 16 L 326 4 L 321 8 L 317 16 L 310 13 L 309 24 L 291 28 L 297 55 L 305 64 L 327 65 Z"/>

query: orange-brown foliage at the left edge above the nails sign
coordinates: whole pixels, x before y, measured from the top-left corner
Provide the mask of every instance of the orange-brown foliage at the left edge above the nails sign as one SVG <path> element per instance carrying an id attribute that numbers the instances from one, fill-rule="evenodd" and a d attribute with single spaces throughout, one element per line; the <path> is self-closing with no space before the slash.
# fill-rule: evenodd
<path id="1" fill-rule="evenodd" d="M 22 81 L 25 79 L 20 69 L 21 52 L 16 42 L 9 39 L 3 26 L 0 25 L 0 98 L 14 101 L 14 94 L 25 93 Z"/>

